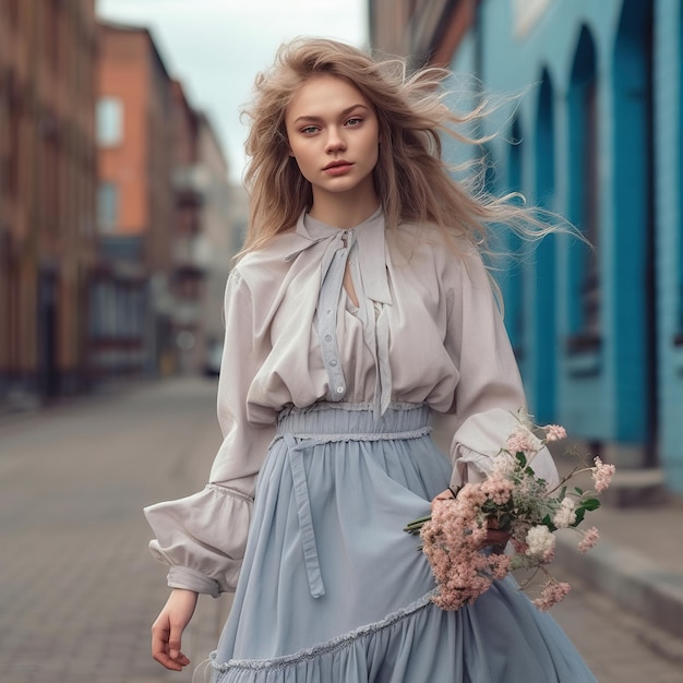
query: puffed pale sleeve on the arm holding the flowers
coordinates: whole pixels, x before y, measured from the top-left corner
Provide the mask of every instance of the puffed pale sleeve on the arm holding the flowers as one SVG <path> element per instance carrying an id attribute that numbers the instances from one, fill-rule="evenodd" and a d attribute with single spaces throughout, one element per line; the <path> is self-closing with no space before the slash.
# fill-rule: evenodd
<path id="1" fill-rule="evenodd" d="M 491 472 L 493 458 L 519 423 L 519 411 L 526 411 L 526 397 L 479 253 L 471 249 L 464 254 L 455 272 L 445 344 L 459 379 L 452 410 L 436 416 L 435 429 L 451 440 L 451 484 L 458 487 L 481 481 Z M 558 482 L 547 448 L 531 466 L 549 483 Z"/>

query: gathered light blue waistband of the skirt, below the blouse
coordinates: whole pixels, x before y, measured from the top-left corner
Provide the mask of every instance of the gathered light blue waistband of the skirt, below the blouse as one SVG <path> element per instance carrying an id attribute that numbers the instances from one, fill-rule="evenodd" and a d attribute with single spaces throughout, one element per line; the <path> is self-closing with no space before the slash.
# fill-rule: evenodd
<path id="1" fill-rule="evenodd" d="M 277 418 L 276 434 L 301 436 L 339 435 L 347 439 L 423 431 L 429 423 L 427 404 L 392 403 L 375 419 L 372 404 L 316 403 L 305 408 L 290 406 Z"/>

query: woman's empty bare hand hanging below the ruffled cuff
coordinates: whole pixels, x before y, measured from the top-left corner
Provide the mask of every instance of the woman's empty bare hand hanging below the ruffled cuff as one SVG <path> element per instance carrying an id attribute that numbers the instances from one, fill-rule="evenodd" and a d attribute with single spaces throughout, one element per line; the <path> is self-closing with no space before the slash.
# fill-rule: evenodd
<path id="1" fill-rule="evenodd" d="M 182 632 L 190 623 L 197 594 L 173 588 L 164 609 L 152 625 L 152 657 L 172 671 L 182 671 L 190 659 L 181 651 Z"/>

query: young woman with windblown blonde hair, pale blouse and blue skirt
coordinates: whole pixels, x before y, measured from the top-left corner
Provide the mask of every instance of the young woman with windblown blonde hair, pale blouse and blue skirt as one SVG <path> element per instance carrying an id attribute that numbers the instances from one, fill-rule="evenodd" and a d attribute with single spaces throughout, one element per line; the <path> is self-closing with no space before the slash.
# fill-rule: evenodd
<path id="1" fill-rule="evenodd" d="M 185 667 L 197 594 L 236 590 L 216 682 L 595 681 L 513 579 L 435 607 L 403 531 L 450 484 L 486 477 L 525 404 L 479 251 L 488 223 L 524 214 L 448 176 L 445 72 L 395 65 L 299 40 L 256 80 L 225 441 L 204 491 L 146 510 L 173 589 L 153 654 Z M 547 452 L 535 463 L 555 477 Z"/>

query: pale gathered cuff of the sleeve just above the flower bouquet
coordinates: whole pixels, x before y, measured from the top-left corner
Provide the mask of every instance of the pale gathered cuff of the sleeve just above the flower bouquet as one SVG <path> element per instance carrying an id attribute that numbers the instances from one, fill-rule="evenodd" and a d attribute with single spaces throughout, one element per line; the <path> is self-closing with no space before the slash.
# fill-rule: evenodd
<path id="1" fill-rule="evenodd" d="M 493 469 L 494 458 L 505 447 L 519 420 L 510 410 L 493 408 L 470 416 L 455 433 L 451 447 L 452 487 L 483 481 Z M 531 469 L 552 489 L 559 482 L 558 468 L 548 448 L 532 458 Z"/>

